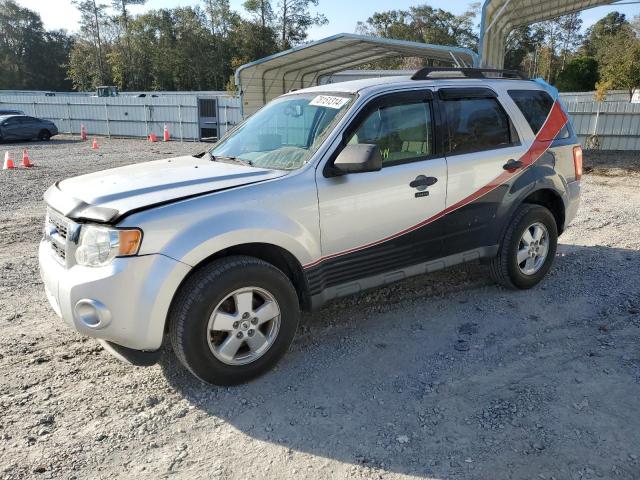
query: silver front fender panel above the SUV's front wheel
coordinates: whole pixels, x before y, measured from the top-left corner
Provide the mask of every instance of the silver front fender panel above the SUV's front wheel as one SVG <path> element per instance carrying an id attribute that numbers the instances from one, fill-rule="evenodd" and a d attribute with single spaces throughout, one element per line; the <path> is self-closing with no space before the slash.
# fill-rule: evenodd
<path id="1" fill-rule="evenodd" d="M 120 226 L 142 229 L 141 254 L 190 266 L 248 243 L 280 247 L 301 265 L 321 257 L 318 198 L 301 175 L 158 206 Z"/>

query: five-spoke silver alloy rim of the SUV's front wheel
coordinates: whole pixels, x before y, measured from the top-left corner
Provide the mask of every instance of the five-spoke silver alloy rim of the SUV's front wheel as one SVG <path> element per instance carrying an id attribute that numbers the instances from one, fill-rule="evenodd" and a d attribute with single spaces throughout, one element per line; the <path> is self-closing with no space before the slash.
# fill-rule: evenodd
<path id="1" fill-rule="evenodd" d="M 214 308 L 207 326 L 211 353 L 227 365 L 255 362 L 271 348 L 280 330 L 280 307 L 268 291 L 239 288 Z"/>

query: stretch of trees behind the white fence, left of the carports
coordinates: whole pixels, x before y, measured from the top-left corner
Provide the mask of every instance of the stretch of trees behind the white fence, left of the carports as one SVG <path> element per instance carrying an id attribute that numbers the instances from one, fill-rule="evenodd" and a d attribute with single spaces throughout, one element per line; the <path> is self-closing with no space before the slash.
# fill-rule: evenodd
<path id="1" fill-rule="evenodd" d="M 46 31 L 40 16 L 0 0 L 0 89 L 224 90 L 247 62 L 307 40 L 326 17 L 318 0 L 202 0 L 132 15 L 146 0 L 73 0 L 79 31 Z M 242 13 L 242 14 L 241 14 Z"/>

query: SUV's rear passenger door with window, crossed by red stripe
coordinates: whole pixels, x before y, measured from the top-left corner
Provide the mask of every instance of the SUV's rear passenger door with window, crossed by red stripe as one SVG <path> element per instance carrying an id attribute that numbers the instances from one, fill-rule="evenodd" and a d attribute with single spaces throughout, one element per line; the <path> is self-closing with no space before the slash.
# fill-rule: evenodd
<path id="1" fill-rule="evenodd" d="M 526 147 L 493 90 L 447 87 L 438 98 L 448 169 L 444 254 L 495 245 L 492 227 L 509 190 L 506 165 Z"/>

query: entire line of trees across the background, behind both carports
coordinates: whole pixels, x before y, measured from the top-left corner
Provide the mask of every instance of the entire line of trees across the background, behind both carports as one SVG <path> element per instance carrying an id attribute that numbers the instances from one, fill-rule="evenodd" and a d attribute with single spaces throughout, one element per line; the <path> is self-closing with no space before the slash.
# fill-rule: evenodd
<path id="1" fill-rule="evenodd" d="M 134 15 L 146 0 L 73 0 L 76 33 L 48 31 L 37 12 L 0 0 L 0 89 L 233 89 L 235 69 L 308 40 L 327 23 L 319 0 L 201 0 Z M 478 49 L 480 3 L 462 14 L 420 4 L 374 13 L 364 35 Z M 612 12 L 582 33 L 578 14 L 519 27 L 507 38 L 505 68 L 543 77 L 564 91 L 640 86 L 640 20 Z M 364 67 L 417 68 L 398 58 Z"/>

